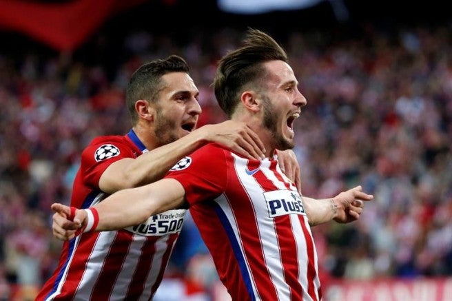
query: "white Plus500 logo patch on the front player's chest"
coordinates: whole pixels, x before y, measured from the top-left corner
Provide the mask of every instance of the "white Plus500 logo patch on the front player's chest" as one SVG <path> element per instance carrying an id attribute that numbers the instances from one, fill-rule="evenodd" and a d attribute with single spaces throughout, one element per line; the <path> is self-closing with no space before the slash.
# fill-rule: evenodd
<path id="1" fill-rule="evenodd" d="M 264 193 L 269 217 L 285 216 L 287 214 L 300 214 L 305 216 L 305 207 L 297 191 L 275 190 Z"/>

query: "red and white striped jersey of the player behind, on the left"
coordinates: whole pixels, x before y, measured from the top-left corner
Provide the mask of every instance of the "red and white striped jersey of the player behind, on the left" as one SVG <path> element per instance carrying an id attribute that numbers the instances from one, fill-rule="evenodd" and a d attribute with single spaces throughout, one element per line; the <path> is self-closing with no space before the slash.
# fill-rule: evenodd
<path id="1" fill-rule="evenodd" d="M 99 178 L 121 158 L 147 152 L 133 131 L 95 138 L 83 151 L 71 206 L 88 208 L 107 197 Z M 133 200 L 124 200 L 124 205 Z M 59 264 L 36 300 L 150 300 L 183 224 L 170 210 L 120 231 L 88 232 L 63 244 Z"/>

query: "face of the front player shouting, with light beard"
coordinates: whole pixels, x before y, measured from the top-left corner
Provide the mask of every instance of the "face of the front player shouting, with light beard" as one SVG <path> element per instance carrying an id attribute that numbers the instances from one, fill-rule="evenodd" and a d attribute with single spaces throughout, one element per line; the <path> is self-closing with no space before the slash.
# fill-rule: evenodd
<path id="1" fill-rule="evenodd" d="M 284 61 L 264 64 L 266 91 L 263 98 L 263 125 L 269 129 L 274 148 L 284 150 L 294 147 L 294 120 L 300 116 L 300 107 L 306 98 L 298 90 L 298 81 L 292 68 Z"/>

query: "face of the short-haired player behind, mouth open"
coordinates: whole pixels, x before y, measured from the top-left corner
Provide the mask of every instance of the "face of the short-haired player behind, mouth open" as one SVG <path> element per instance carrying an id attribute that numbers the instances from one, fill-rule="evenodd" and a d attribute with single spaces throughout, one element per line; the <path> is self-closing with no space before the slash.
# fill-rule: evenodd
<path id="1" fill-rule="evenodd" d="M 155 104 L 154 134 L 159 145 L 172 143 L 195 129 L 201 114 L 198 88 L 184 72 L 162 76 L 163 87 Z"/>

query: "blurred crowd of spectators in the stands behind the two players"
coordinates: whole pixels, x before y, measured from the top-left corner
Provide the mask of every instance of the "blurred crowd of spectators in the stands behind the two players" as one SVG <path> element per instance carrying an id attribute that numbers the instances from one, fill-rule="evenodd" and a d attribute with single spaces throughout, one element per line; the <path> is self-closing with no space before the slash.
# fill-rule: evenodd
<path id="1" fill-rule="evenodd" d="M 198 126 L 223 121 L 210 84 L 246 25 L 280 41 L 307 98 L 295 123 L 303 194 L 323 198 L 361 184 L 375 196 L 358 222 L 313 228 L 322 278 L 452 276 L 451 23 L 297 27 L 265 17 L 181 30 L 176 16 L 156 30 L 125 30 L 130 19 L 115 19 L 74 51 L 0 33 L 0 300 L 32 300 L 53 271 L 61 242 L 50 204 L 69 202 L 94 136 L 130 129 L 124 92 L 132 72 L 180 54 L 201 92 Z M 190 218 L 167 279 L 207 296 L 216 282 Z"/>

